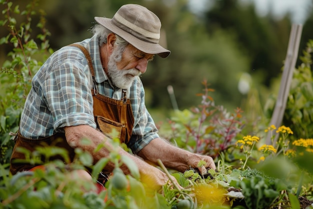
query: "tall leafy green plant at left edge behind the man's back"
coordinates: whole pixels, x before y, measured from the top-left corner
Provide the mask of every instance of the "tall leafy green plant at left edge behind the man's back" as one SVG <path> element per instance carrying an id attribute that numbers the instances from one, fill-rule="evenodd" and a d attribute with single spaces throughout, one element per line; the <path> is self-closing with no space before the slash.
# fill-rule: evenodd
<path id="1" fill-rule="evenodd" d="M 3 19 L 0 27 L 8 34 L 0 38 L 0 45 L 9 48 L 7 59 L 0 68 L 0 141 L 2 163 L 7 163 L 13 147 L 12 138 L 8 133 L 17 132 L 20 114 L 30 89 L 31 78 L 41 67 L 42 62 L 52 53 L 49 48 L 45 28 L 44 12 L 37 9 L 37 0 L 33 0 L 21 9 L 8 0 L 0 0 Z M 32 18 L 39 15 L 36 27 L 38 34 L 32 33 Z M 17 19 L 24 20 L 20 24 Z M 3 30 L 3 31 L 4 31 Z M 6 151 L 5 154 L 3 151 Z"/>

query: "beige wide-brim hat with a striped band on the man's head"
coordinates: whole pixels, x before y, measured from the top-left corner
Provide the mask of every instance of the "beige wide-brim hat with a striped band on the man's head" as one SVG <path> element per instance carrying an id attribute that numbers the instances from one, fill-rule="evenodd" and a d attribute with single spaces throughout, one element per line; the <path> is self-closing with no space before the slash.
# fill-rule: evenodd
<path id="1" fill-rule="evenodd" d="M 157 54 L 162 58 L 170 54 L 158 44 L 160 20 L 145 7 L 123 5 L 112 19 L 94 17 L 94 20 L 144 53 Z"/>

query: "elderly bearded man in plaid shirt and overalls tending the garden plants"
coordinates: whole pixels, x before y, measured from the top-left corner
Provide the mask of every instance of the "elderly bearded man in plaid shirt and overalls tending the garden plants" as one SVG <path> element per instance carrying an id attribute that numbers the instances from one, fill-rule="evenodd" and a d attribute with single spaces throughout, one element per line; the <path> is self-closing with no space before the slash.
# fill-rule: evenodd
<path id="1" fill-rule="evenodd" d="M 170 52 L 158 44 L 160 21 L 139 5 L 122 6 L 112 19 L 95 17 L 93 36 L 65 46 L 53 53 L 32 79 L 15 137 L 10 172 L 32 169 L 20 163 L 24 147 L 59 146 L 74 157 L 74 148 L 89 152 L 94 162 L 108 156 L 110 133 L 118 137 L 134 154 L 122 148 L 120 155 L 131 158 L 141 176 L 148 176 L 157 186 L 167 182 L 161 170 L 146 161 L 162 163 L 183 172 L 195 168 L 200 160 L 215 169 L 211 157 L 179 149 L 159 138 L 155 124 L 144 104 L 144 89 L 139 75 L 144 73 L 154 55 L 162 58 Z M 82 138 L 91 140 L 85 145 Z M 104 146 L 97 152 L 95 147 Z M 114 164 L 107 164 L 110 172 Z M 122 166 L 129 173 L 126 166 Z"/>

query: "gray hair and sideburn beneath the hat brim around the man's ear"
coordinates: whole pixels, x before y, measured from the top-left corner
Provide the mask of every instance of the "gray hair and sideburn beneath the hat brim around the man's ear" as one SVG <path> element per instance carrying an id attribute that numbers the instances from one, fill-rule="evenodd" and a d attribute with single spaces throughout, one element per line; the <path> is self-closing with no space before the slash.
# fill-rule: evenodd
<path id="1" fill-rule="evenodd" d="M 96 24 L 95 26 L 93 26 L 90 29 L 90 32 L 93 33 L 93 35 L 99 36 L 99 45 L 103 45 L 107 43 L 106 37 L 108 34 L 114 34 L 113 32 L 101 26 L 100 24 Z M 116 41 L 114 43 L 114 46 L 116 46 L 115 50 L 117 50 L 117 52 L 114 53 L 113 59 L 116 62 L 118 62 L 121 60 L 122 53 L 129 43 L 126 42 L 121 37 L 117 36 L 116 34 L 115 34 L 115 37 L 116 37 Z"/>

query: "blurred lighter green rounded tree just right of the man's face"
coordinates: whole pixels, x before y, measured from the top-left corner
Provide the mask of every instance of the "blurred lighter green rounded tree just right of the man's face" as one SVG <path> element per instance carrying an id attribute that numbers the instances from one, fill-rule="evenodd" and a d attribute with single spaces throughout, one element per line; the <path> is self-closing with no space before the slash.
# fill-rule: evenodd
<path id="1" fill-rule="evenodd" d="M 145 87 L 152 90 L 152 106 L 171 107 L 167 85 L 173 86 L 179 108 L 199 104 L 201 98 L 196 94 L 202 92 L 203 79 L 216 89 L 212 95 L 218 104 L 239 106 L 242 95 L 237 82 L 249 61 L 233 36 L 221 30 L 208 36 L 187 1 L 175 1 L 170 6 L 149 1 L 148 8 L 160 17 L 171 50 L 167 59 L 156 58 L 142 76 Z"/>

